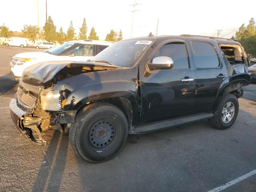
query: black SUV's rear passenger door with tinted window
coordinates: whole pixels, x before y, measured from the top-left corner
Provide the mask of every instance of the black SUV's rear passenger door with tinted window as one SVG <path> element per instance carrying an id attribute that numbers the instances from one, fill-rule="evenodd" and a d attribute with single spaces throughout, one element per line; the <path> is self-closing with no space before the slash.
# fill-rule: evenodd
<path id="1" fill-rule="evenodd" d="M 211 111 L 220 84 L 227 76 L 216 48 L 209 42 L 192 41 L 196 66 L 196 112 Z"/>

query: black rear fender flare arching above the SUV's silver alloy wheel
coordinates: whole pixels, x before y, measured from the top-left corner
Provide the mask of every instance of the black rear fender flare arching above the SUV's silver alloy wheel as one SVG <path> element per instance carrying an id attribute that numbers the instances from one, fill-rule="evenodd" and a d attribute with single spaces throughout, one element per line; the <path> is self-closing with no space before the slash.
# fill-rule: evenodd
<path id="1" fill-rule="evenodd" d="M 225 88 L 227 88 L 232 83 L 243 83 L 244 85 L 249 85 L 250 82 L 251 77 L 248 73 L 234 74 L 222 81 L 217 96 L 221 95 Z"/>

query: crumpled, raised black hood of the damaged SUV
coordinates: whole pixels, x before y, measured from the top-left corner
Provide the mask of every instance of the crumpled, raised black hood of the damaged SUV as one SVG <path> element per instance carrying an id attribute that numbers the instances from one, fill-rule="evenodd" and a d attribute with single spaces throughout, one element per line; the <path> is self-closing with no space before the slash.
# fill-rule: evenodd
<path id="1" fill-rule="evenodd" d="M 100 62 L 51 61 L 26 68 L 22 81 L 35 86 L 50 87 L 56 82 L 82 73 L 115 70 L 122 67 Z"/>

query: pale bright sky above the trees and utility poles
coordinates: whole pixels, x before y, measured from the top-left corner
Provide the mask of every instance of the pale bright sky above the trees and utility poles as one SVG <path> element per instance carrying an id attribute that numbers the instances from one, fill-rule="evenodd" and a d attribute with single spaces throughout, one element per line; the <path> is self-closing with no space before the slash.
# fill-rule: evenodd
<path id="1" fill-rule="evenodd" d="M 40 28 L 46 21 L 46 0 L 39 0 Z M 136 0 L 132 37 L 156 35 L 201 34 L 217 29 L 238 28 L 256 19 L 256 0 Z M 64 32 L 73 21 L 76 34 L 86 18 L 87 35 L 92 27 L 104 40 L 113 29 L 122 29 L 130 38 L 134 0 L 47 0 L 48 16 L 57 31 Z M 37 0 L 1 0 L 0 26 L 21 31 L 24 24 L 37 25 Z"/>

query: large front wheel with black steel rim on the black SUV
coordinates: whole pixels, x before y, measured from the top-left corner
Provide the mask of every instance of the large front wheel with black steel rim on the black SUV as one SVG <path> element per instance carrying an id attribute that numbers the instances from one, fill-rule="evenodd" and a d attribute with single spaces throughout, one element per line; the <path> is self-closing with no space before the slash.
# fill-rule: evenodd
<path id="1" fill-rule="evenodd" d="M 108 103 L 94 103 L 83 108 L 70 126 L 72 148 L 84 160 L 99 163 L 115 157 L 128 136 L 124 113 Z"/>

